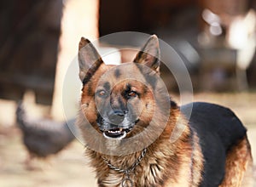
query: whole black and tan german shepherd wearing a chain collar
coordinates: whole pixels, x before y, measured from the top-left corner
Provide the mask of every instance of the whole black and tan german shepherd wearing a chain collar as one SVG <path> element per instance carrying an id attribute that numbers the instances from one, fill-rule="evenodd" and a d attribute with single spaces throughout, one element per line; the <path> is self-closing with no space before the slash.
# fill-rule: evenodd
<path id="1" fill-rule="evenodd" d="M 155 35 L 121 65 L 105 65 L 89 40 L 79 42 L 77 124 L 98 186 L 253 185 L 241 121 L 220 105 L 179 107 L 160 81 L 159 55 Z"/>

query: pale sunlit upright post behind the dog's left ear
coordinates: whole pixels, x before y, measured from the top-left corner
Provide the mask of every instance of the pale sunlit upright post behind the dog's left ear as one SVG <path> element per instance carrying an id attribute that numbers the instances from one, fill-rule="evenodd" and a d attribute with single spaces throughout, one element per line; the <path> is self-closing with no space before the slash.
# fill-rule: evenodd
<path id="1" fill-rule="evenodd" d="M 55 73 L 55 89 L 51 115 L 55 120 L 65 119 L 62 109 L 62 86 L 68 65 L 78 54 L 80 37 L 94 40 L 98 37 L 98 0 L 66 0 L 61 20 L 61 37 Z M 75 75 L 78 76 L 79 75 Z M 75 104 L 72 104 L 75 105 Z"/>

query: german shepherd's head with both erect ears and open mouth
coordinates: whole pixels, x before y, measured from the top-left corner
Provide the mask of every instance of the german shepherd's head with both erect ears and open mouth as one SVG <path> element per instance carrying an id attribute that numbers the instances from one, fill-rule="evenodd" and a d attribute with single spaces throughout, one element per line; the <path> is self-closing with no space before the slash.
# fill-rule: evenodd
<path id="1" fill-rule="evenodd" d="M 161 94 L 160 48 L 156 36 L 131 63 L 105 65 L 92 43 L 79 42 L 81 105 L 90 125 L 107 139 L 135 136 L 148 127 Z"/>

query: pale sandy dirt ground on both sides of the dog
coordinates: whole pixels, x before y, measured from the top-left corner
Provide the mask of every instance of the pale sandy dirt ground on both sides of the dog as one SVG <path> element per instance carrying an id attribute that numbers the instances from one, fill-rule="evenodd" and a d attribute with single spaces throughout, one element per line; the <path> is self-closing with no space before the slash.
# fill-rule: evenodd
<path id="1" fill-rule="evenodd" d="M 256 93 L 195 94 L 194 100 L 226 105 L 235 111 L 248 129 L 253 156 L 256 158 Z M 24 165 L 26 149 L 19 129 L 0 124 L 0 186 L 96 186 L 94 173 L 83 152 L 83 144 L 73 141 L 57 156 L 47 161 L 33 161 L 37 169 L 27 170 Z"/>

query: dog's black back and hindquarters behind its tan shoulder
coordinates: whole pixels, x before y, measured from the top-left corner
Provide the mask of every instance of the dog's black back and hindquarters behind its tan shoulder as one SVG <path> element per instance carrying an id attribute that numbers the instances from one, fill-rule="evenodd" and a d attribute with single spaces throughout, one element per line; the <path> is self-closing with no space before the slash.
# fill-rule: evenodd
<path id="1" fill-rule="evenodd" d="M 197 102 L 182 106 L 181 111 L 189 119 L 191 131 L 200 139 L 205 160 L 201 186 L 231 184 L 229 173 L 226 171 L 235 171 L 236 167 L 230 164 L 240 159 L 236 161 L 239 164 L 237 167 L 243 171 L 247 161 L 251 161 L 247 129 L 243 127 L 234 112 L 220 105 Z M 242 150 L 247 152 L 237 152 Z M 229 167 L 234 168 L 230 170 Z M 237 178 L 239 179 L 239 176 Z"/>

